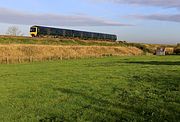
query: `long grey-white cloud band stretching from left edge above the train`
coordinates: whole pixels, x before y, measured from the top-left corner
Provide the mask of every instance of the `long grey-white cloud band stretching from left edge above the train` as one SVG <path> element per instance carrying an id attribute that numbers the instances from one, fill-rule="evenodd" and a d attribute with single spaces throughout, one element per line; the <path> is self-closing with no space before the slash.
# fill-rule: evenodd
<path id="1" fill-rule="evenodd" d="M 0 22 L 49 26 L 131 26 L 86 15 L 33 14 L 6 8 L 0 8 Z"/>

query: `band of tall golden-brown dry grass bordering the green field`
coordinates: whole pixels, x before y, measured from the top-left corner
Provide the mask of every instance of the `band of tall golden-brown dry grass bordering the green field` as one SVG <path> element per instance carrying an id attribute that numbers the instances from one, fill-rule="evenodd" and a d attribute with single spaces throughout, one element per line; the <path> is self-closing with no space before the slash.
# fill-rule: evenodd
<path id="1" fill-rule="evenodd" d="M 102 56 L 142 55 L 136 47 L 117 46 L 53 46 L 10 44 L 0 45 L 0 63 L 21 63 L 52 59 L 71 59 Z"/>

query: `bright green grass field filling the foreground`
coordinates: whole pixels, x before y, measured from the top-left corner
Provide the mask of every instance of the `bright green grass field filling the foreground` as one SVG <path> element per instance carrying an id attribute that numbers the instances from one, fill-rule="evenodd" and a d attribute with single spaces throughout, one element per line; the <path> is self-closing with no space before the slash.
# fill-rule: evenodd
<path id="1" fill-rule="evenodd" d="M 180 119 L 180 56 L 0 65 L 0 121 Z"/>

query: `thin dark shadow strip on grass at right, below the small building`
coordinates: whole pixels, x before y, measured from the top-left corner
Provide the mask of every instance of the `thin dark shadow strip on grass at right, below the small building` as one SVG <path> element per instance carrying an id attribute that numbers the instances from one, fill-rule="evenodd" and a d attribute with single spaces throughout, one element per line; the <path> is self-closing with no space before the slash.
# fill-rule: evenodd
<path id="1" fill-rule="evenodd" d="M 145 65 L 180 65 L 180 61 L 129 61 L 125 63 Z"/>

